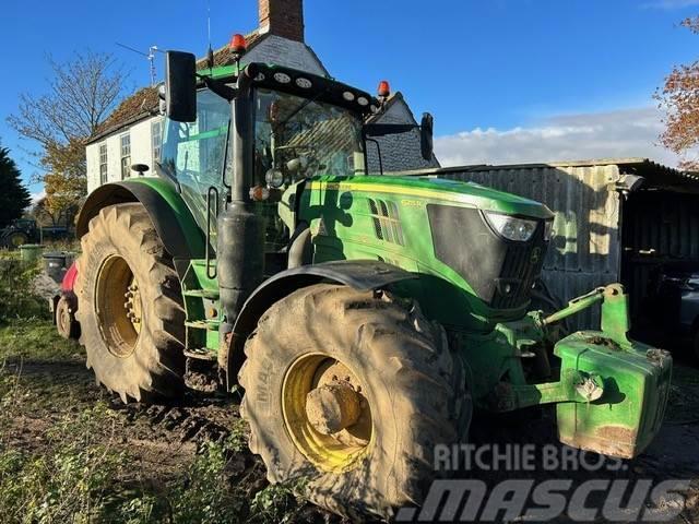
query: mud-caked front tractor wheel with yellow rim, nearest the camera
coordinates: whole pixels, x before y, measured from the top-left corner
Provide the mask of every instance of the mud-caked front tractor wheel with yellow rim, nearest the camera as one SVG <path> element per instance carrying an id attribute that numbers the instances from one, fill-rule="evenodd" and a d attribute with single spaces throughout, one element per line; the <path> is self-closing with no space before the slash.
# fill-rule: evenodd
<path id="1" fill-rule="evenodd" d="M 461 361 L 412 301 L 332 284 L 275 303 L 239 373 L 250 449 L 272 483 L 350 517 L 420 503 L 437 444 L 471 419 Z"/>

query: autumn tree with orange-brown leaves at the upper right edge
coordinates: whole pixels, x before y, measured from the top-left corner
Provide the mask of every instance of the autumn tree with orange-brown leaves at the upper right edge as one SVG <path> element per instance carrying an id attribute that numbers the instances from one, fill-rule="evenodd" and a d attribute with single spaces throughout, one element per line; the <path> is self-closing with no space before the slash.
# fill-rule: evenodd
<path id="1" fill-rule="evenodd" d="M 686 19 L 680 25 L 699 34 L 699 16 Z M 676 66 L 655 98 L 666 114 L 661 143 L 682 157 L 682 169 L 699 170 L 699 157 L 690 157 L 699 146 L 699 60 Z"/>

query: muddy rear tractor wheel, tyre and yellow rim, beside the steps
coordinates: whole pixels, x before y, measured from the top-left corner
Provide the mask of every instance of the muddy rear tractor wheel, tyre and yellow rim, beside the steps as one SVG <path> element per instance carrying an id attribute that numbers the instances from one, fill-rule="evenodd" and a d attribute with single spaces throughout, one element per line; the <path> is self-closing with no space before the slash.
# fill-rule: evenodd
<path id="1" fill-rule="evenodd" d="M 110 205 L 90 222 L 75 294 L 80 342 L 97 382 L 125 403 L 182 393 L 180 284 L 142 204 Z"/>

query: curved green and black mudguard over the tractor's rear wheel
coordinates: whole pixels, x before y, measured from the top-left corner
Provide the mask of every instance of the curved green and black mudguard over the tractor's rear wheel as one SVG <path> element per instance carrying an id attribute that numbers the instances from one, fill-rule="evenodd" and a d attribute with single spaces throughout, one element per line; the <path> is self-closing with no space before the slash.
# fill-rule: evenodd
<path id="1" fill-rule="evenodd" d="M 88 230 L 90 221 L 108 205 L 141 202 L 167 251 L 175 259 L 204 258 L 205 238 L 187 204 L 169 181 L 137 178 L 106 183 L 87 196 L 78 216 L 76 234 Z"/>

